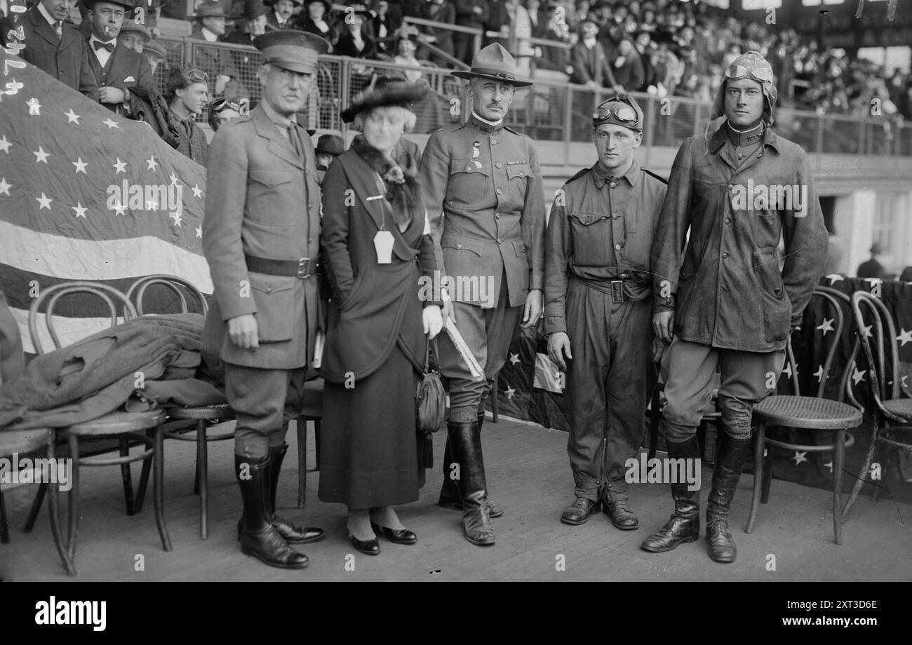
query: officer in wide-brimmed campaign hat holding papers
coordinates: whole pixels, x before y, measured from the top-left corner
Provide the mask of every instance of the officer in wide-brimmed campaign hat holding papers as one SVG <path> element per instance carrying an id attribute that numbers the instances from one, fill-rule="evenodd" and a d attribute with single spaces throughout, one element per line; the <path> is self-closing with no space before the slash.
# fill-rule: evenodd
<path id="1" fill-rule="evenodd" d="M 513 56 L 484 47 L 465 78 L 472 115 L 432 134 L 421 158 L 442 275 L 453 279 L 451 317 L 484 380 L 475 381 L 449 337 L 440 340 L 440 368 L 450 392 L 448 441 L 440 506 L 460 508 L 465 537 L 494 543 L 489 517 L 503 510 L 488 500 L 482 461 L 484 399 L 503 367 L 516 324 L 538 322 L 544 286 L 544 189 L 531 138 L 503 125 L 518 80 Z M 460 465 L 458 478 L 453 462 Z"/>

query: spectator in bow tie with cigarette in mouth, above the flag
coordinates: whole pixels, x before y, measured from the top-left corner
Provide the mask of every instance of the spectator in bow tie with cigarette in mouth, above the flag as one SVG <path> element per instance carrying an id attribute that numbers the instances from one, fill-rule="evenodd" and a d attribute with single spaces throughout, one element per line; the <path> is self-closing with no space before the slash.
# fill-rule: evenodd
<path id="1" fill-rule="evenodd" d="M 87 4 L 86 17 L 92 27 L 88 37 L 88 63 L 98 83 L 98 103 L 128 116 L 131 88 L 146 94 L 158 93 L 146 59 L 140 52 L 118 44 L 124 17 L 132 11 L 133 1 L 89 0 Z M 135 33 L 138 27 L 131 24 L 128 28 Z M 140 37 L 141 34 L 140 31 Z"/>

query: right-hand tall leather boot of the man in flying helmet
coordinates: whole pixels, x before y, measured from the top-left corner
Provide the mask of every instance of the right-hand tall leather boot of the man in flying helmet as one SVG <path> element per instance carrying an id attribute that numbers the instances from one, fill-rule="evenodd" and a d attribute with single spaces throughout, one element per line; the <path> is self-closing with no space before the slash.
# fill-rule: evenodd
<path id="1" fill-rule="evenodd" d="M 729 532 L 729 510 L 751 438 L 734 438 L 723 433 L 720 439 L 716 467 L 712 471 L 712 489 L 706 505 L 706 545 L 710 558 L 716 562 L 734 562 L 738 549 Z"/>

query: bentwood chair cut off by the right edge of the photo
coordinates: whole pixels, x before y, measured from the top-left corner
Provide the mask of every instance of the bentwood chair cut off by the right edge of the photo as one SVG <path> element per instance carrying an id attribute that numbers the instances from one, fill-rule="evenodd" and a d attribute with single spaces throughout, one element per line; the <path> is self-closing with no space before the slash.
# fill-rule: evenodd
<path id="1" fill-rule="evenodd" d="M 865 309 L 870 313 L 870 325 L 865 325 Z M 912 394 L 904 381 L 905 376 L 901 374 L 902 366 L 896 347 L 896 324 L 893 323 L 886 305 L 868 292 L 855 292 L 852 295 L 852 312 L 859 332 L 848 369 L 857 377 L 857 381 L 855 378 L 847 380 L 845 390 L 849 400 L 859 405 L 855 396 L 855 386 L 861 381 L 867 382 L 870 399 L 867 410 L 873 418 L 874 432 L 871 435 L 871 444 L 867 448 L 865 463 L 861 466 L 852 493 L 845 503 L 842 513 L 844 522 L 855 504 L 861 486 L 869 479 L 869 469 L 877 445 L 884 444 L 912 453 Z M 872 351 L 872 338 L 876 352 Z M 867 370 L 864 372 L 857 369 L 859 346 L 865 353 Z M 879 487 L 875 488 L 875 499 L 879 490 Z"/>

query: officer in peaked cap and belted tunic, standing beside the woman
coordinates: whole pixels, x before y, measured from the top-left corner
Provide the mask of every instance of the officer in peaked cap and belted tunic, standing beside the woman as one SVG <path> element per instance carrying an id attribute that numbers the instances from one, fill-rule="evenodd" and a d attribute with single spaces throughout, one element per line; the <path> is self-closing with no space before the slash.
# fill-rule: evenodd
<path id="1" fill-rule="evenodd" d="M 212 138 L 202 250 L 214 292 L 203 333 L 225 363 L 237 415 L 234 464 L 244 498 L 241 550 L 280 568 L 306 567 L 289 543 L 323 538 L 275 515 L 285 428 L 302 405 L 314 357 L 320 192 L 310 138 L 295 121 L 326 41 L 298 31 L 254 39 L 263 100 Z M 302 213 L 302 206 L 306 210 Z"/>

